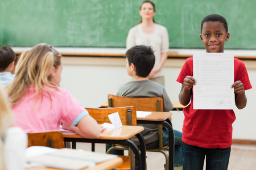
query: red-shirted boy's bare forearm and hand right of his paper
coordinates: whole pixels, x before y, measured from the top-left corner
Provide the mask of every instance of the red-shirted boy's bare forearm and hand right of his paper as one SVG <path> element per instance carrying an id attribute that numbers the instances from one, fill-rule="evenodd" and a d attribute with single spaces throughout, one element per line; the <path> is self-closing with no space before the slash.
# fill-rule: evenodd
<path id="1" fill-rule="evenodd" d="M 243 83 L 238 80 L 232 84 L 231 88 L 234 88 L 235 102 L 238 109 L 243 109 L 246 107 L 247 98 L 245 95 L 245 89 L 243 88 Z"/>

